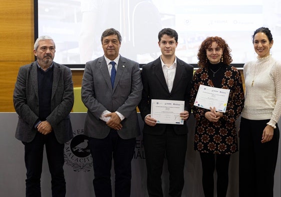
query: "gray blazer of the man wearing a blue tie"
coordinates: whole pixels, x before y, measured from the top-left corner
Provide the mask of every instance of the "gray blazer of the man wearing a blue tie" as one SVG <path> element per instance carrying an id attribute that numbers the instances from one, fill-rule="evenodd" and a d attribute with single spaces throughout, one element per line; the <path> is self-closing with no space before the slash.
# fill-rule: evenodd
<path id="1" fill-rule="evenodd" d="M 99 119 L 106 109 L 125 116 L 122 129 L 117 131 L 123 139 L 140 134 L 136 107 L 141 100 L 142 81 L 139 64 L 120 56 L 114 88 L 104 56 L 86 63 L 82 80 L 82 101 L 88 108 L 84 133 L 89 137 L 105 138 L 110 127 Z"/>

